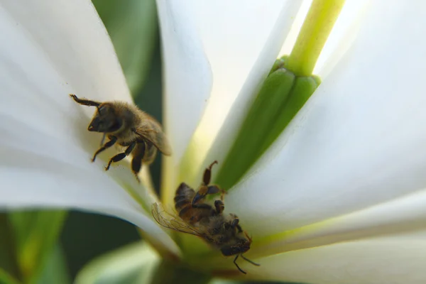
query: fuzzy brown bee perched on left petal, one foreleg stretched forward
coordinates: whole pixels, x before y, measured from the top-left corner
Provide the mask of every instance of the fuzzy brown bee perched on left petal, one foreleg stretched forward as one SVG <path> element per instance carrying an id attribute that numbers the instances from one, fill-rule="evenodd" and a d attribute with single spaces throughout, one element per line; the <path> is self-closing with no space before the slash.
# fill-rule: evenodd
<path id="1" fill-rule="evenodd" d="M 104 133 L 104 137 L 109 138 L 109 141 L 94 153 L 92 162 L 99 153 L 115 143 L 127 147 L 123 153 L 114 155 L 109 160 L 105 170 L 109 170 L 111 163 L 119 162 L 132 153 L 131 170 L 139 181 L 138 173 L 142 163 L 151 164 L 157 155 L 157 149 L 164 155 L 171 155 L 168 139 L 158 121 L 135 105 L 126 102 L 94 102 L 79 99 L 75 94 L 70 94 L 70 97 L 78 104 L 97 108 L 87 130 Z M 102 143 L 103 140 L 104 138 Z"/>

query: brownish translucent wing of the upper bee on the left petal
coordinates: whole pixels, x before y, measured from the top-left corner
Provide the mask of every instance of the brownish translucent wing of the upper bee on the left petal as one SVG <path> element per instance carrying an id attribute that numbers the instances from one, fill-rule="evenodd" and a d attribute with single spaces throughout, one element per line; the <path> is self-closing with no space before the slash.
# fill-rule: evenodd
<path id="1" fill-rule="evenodd" d="M 148 114 L 145 114 L 145 116 L 146 119 L 144 119 L 143 124 L 135 130 L 136 134 L 153 143 L 155 148 L 158 148 L 164 155 L 172 155 L 172 148 L 160 124 Z"/>

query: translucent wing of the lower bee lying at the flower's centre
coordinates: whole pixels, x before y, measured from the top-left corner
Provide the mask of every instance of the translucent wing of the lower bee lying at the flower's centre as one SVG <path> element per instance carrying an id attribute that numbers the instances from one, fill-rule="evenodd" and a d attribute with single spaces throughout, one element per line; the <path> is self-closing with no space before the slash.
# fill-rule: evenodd
<path id="1" fill-rule="evenodd" d="M 160 209 L 160 205 L 154 203 L 151 210 L 155 221 L 161 226 L 174 231 L 180 231 L 186 234 L 192 234 L 194 236 L 201 236 L 206 238 L 205 234 L 197 230 L 194 226 L 183 222 L 182 220 L 174 217 L 172 214 L 165 212 L 164 209 Z"/>

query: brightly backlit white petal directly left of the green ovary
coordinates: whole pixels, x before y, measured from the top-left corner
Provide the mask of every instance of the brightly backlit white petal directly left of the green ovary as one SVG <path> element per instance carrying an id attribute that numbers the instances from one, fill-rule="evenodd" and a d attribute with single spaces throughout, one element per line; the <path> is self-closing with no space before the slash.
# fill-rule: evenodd
<path id="1" fill-rule="evenodd" d="M 185 168 L 183 173 L 186 182 L 196 185 L 205 165 L 224 160 L 302 1 L 197 3 L 214 83 L 209 105 L 192 140 L 190 169 Z"/>

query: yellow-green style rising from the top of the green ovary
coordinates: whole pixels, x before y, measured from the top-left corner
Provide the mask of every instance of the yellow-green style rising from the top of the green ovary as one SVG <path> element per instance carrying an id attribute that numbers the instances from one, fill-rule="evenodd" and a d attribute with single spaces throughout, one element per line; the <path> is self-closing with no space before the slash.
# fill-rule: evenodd
<path id="1" fill-rule="evenodd" d="M 285 67 L 297 76 L 310 76 L 344 5 L 344 0 L 314 0 Z"/>

